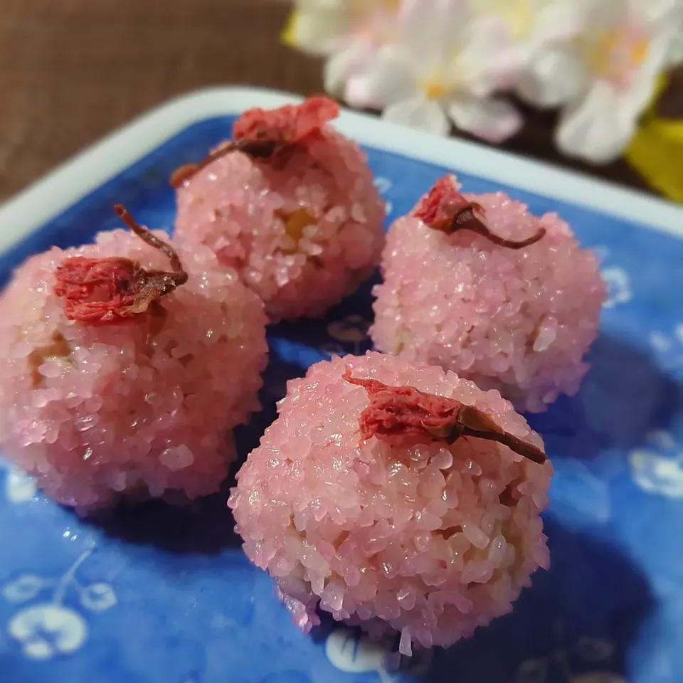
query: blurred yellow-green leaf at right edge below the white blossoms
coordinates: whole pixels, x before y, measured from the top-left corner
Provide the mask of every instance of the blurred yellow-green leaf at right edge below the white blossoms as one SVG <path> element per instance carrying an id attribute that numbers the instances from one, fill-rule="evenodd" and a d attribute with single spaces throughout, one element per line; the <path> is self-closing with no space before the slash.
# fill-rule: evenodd
<path id="1" fill-rule="evenodd" d="M 655 102 L 666 85 L 667 79 L 662 77 L 625 157 L 653 189 L 683 203 L 683 120 L 663 119 L 655 111 Z"/>

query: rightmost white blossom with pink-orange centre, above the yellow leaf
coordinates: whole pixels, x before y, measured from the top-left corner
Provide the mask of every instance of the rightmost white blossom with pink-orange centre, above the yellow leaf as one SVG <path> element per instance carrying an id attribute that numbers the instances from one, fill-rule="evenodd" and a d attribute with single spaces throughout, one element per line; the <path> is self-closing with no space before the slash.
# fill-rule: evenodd
<path id="1" fill-rule="evenodd" d="M 542 68 L 536 65 L 536 99 L 567 102 L 556 132 L 565 154 L 610 162 L 623 152 L 652 98 L 681 27 L 682 4 L 576 2 L 589 13 L 586 32 L 571 46 L 546 51 Z"/>

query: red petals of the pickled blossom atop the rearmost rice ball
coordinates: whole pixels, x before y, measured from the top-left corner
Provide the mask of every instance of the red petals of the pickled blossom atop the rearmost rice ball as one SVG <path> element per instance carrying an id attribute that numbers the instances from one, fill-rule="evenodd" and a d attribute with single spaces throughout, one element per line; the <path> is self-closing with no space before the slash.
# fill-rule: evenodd
<path id="1" fill-rule="evenodd" d="M 235 122 L 238 144 L 300 144 L 321 137 L 324 126 L 339 116 L 339 105 L 329 97 L 309 97 L 301 105 L 275 110 L 252 109 Z"/>

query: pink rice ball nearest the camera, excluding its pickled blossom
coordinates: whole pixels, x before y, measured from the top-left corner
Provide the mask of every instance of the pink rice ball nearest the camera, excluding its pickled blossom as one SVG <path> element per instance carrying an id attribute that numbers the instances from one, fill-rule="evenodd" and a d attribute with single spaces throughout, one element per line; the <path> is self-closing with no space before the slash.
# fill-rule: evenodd
<path id="1" fill-rule="evenodd" d="M 412 643 L 448 647 L 512 610 L 549 566 L 539 514 L 551 464 L 475 438 L 364 440 L 369 393 L 349 370 L 455 398 L 542 447 L 497 391 L 401 356 L 335 357 L 290 381 L 238 473 L 235 529 L 302 630 L 319 623 L 319 607 L 373 637 L 400 633 L 406 655 Z"/>

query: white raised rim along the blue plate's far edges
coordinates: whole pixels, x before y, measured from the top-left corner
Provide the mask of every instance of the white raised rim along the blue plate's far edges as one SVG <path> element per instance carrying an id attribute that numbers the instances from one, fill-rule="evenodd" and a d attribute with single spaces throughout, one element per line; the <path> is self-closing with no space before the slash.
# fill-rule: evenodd
<path id="1" fill-rule="evenodd" d="M 223 86 L 156 107 L 57 166 L 0 207 L 0 253 L 194 123 L 250 107 L 300 102 L 277 90 Z M 443 139 L 343 110 L 337 127 L 369 147 L 579 204 L 683 238 L 683 207 L 613 183 L 457 138 Z M 426 188 L 425 188 L 426 190 Z"/>

